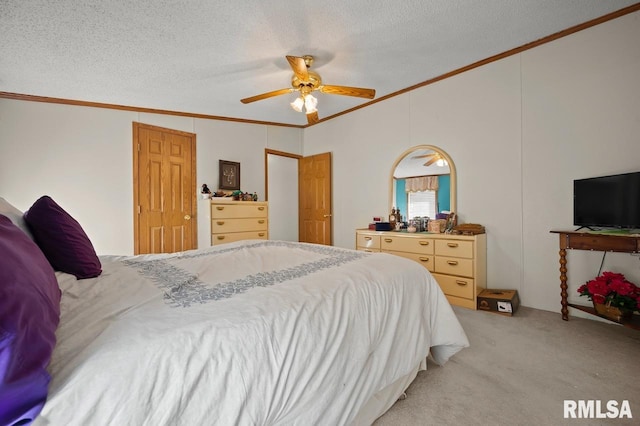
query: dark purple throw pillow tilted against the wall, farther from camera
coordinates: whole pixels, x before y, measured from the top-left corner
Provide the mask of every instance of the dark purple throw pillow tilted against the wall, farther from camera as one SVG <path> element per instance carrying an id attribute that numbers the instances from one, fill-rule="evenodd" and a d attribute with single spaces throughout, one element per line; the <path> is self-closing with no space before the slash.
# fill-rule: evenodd
<path id="1" fill-rule="evenodd" d="M 102 273 L 100 259 L 84 230 L 51 197 L 40 197 L 24 214 L 40 250 L 56 271 L 79 280 Z"/>

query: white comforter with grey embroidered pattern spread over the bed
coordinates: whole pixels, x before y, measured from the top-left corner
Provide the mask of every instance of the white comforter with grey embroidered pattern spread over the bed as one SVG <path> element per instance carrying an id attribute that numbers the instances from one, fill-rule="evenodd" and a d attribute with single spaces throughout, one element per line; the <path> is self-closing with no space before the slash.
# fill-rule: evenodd
<path id="1" fill-rule="evenodd" d="M 58 273 L 62 318 L 36 425 L 341 425 L 431 350 L 468 345 L 415 262 L 245 241 Z"/>

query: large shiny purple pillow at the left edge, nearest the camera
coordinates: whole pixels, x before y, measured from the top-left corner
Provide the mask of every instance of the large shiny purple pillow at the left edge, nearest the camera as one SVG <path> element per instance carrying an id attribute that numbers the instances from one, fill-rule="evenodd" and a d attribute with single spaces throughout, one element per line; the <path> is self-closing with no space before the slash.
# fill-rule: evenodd
<path id="1" fill-rule="evenodd" d="M 38 246 L 0 215 L 0 424 L 30 423 L 47 399 L 60 288 Z"/>

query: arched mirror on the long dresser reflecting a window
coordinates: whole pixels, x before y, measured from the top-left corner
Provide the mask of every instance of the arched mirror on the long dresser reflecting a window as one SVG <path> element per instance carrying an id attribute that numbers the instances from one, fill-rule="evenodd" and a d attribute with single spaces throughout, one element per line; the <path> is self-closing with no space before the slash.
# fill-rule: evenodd
<path id="1" fill-rule="evenodd" d="M 433 145 L 403 152 L 391 168 L 389 210 L 392 207 L 400 208 L 406 220 L 415 216 L 433 219 L 443 211 L 457 213 L 456 168 L 449 154 Z"/>

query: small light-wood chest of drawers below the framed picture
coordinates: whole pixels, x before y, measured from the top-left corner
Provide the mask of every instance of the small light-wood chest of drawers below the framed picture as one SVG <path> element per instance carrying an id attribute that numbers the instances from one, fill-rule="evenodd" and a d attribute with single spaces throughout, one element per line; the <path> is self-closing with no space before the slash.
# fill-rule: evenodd
<path id="1" fill-rule="evenodd" d="M 269 205 L 259 201 L 211 200 L 211 245 L 269 239 Z"/>

